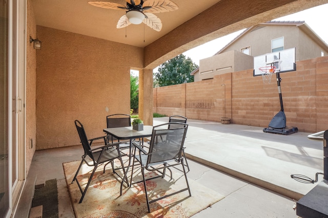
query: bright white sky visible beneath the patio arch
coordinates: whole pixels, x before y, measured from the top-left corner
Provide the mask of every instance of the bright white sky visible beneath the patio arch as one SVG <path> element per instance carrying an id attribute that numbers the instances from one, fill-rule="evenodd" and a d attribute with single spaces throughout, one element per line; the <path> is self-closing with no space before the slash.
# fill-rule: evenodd
<path id="1" fill-rule="evenodd" d="M 276 21 L 305 21 L 305 23 L 323 40 L 328 44 L 328 28 L 326 21 L 328 20 L 328 4 L 310 8 L 304 11 L 290 14 L 284 17 L 274 19 Z M 244 30 L 244 29 L 243 29 Z M 223 36 L 214 39 L 210 42 L 204 43 L 194 49 L 191 49 L 183 55 L 190 57 L 192 61 L 199 66 L 199 60 L 212 57 L 215 53 L 220 51 L 222 47 L 226 46 L 236 36 L 238 36 L 243 30 L 231 33 L 227 36 Z M 157 72 L 158 67 L 153 71 Z M 133 72 L 137 76 L 136 72 Z"/>

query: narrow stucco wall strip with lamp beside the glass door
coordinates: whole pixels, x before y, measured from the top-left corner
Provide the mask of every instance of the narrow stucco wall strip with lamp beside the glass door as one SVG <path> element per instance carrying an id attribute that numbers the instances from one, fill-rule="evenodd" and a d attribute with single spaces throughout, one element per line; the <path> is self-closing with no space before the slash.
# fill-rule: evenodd
<path id="1" fill-rule="evenodd" d="M 32 162 L 35 152 L 36 143 L 36 50 L 33 48 L 33 43 L 30 43 L 30 36 L 33 39 L 37 38 L 34 12 L 31 1 L 27 1 L 27 28 L 26 28 L 26 171 Z M 30 140 L 32 139 L 34 146 L 31 148 Z"/>

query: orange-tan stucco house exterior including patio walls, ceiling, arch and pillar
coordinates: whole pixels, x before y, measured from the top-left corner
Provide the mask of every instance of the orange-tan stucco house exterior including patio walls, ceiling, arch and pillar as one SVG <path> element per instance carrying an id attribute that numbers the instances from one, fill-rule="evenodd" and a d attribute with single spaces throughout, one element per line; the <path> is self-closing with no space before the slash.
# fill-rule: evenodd
<path id="1" fill-rule="evenodd" d="M 0 218 L 28 217 L 35 151 L 80 144 L 75 119 L 92 138 L 104 134 L 106 115 L 129 113 L 131 69 L 139 70 L 139 116 L 153 125 L 156 66 L 328 0 L 173 0 L 179 9 L 159 15 L 160 32 L 144 25 L 117 29 L 125 12 L 86 0 L 60 2 L 0 0 Z M 42 48 L 35 49 L 34 39 Z"/>

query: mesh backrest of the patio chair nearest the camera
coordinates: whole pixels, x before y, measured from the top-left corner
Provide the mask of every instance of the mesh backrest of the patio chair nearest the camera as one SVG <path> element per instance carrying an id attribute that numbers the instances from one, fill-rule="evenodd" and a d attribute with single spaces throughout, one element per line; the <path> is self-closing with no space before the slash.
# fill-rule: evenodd
<path id="1" fill-rule="evenodd" d="M 175 128 L 165 128 L 167 125 L 174 125 Z M 188 124 L 183 123 L 167 123 L 153 127 L 147 165 L 181 159 L 187 129 Z"/>

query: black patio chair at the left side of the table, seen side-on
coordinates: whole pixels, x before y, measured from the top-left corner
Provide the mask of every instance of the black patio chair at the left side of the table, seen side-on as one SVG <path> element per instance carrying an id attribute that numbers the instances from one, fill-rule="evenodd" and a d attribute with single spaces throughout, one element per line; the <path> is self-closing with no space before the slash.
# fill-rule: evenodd
<path id="1" fill-rule="evenodd" d="M 84 196 L 86 195 L 86 192 L 88 190 L 88 187 L 91 183 L 92 177 L 93 177 L 94 173 L 96 172 L 96 169 L 97 169 L 98 165 L 101 165 L 101 164 L 107 162 L 104 166 L 104 173 L 105 173 L 105 168 L 106 168 L 107 164 L 111 163 L 113 173 L 115 173 L 120 178 L 122 178 L 122 177 L 115 172 L 113 160 L 115 160 L 115 159 L 120 160 L 121 168 L 123 170 L 124 175 L 125 175 L 125 168 L 124 168 L 123 161 L 121 159 L 121 153 L 119 151 L 119 143 L 118 142 L 117 143 L 107 144 L 106 136 L 104 136 L 103 138 L 104 138 L 104 141 L 105 141 L 105 146 L 101 146 L 101 147 L 97 147 L 95 149 L 91 149 L 91 144 L 89 143 L 89 140 L 87 138 L 87 134 L 84 130 L 83 125 L 78 120 L 75 120 L 74 123 L 75 123 L 78 135 L 80 137 L 80 140 L 81 140 L 81 143 L 82 143 L 82 146 L 83 146 L 83 149 L 84 149 L 84 155 L 82 156 L 81 163 L 80 163 L 80 165 L 79 165 L 79 167 L 76 171 L 76 174 L 73 178 L 73 181 L 72 181 L 72 183 L 73 183 L 76 180 L 76 183 L 77 183 L 77 185 L 78 185 L 78 187 L 79 187 L 79 189 L 82 193 L 82 197 L 79 201 L 79 203 L 81 203 L 83 201 Z M 101 138 L 101 137 L 99 137 L 99 138 Z M 93 161 L 92 164 L 89 163 L 90 160 Z M 87 186 L 84 190 L 81 188 L 78 180 L 76 179 L 76 177 L 78 175 L 78 172 L 79 172 L 83 162 L 85 162 L 88 166 L 93 166 L 94 167 L 93 171 L 91 173 L 91 176 L 88 180 L 88 184 L 87 184 Z M 126 180 L 126 183 L 129 185 L 128 179 Z"/>

